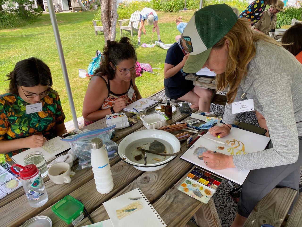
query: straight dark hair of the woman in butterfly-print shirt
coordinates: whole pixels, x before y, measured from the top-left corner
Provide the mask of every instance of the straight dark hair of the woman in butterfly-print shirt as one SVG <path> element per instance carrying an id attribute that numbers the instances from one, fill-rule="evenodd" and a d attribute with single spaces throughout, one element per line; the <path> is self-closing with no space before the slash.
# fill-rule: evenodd
<path id="1" fill-rule="evenodd" d="M 14 70 L 6 74 L 9 81 L 7 91 L 11 94 L 18 94 L 18 86 L 34 87 L 37 85 L 48 86 L 49 89 L 53 85 L 50 69 L 42 60 L 38 58 L 27 58 L 18 61 Z"/>

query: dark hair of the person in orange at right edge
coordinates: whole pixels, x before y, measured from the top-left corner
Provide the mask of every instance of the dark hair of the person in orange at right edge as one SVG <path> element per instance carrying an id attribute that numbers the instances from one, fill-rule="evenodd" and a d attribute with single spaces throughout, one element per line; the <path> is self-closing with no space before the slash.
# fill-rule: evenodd
<path id="1" fill-rule="evenodd" d="M 302 51 L 302 24 L 295 24 L 288 28 L 282 36 L 282 44 L 285 49 L 291 52 L 294 56 Z"/>

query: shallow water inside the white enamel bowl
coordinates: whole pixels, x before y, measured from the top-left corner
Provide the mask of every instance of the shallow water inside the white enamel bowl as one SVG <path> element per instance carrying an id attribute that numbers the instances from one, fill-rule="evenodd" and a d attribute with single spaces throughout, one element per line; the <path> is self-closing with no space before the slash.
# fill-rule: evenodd
<path id="1" fill-rule="evenodd" d="M 129 159 L 130 161 L 134 162 L 134 163 L 138 163 L 138 164 L 144 164 L 144 158 L 143 158 L 143 154 L 142 152 L 138 151 L 136 148 L 139 146 L 145 150 L 149 150 L 149 146 L 152 142 L 154 142 L 154 140 L 157 140 L 159 142 L 161 142 L 162 144 L 164 144 L 165 146 L 165 151 L 163 153 L 173 153 L 171 146 L 169 145 L 169 143 L 167 143 L 165 140 L 161 140 L 159 138 L 144 138 L 141 140 L 136 140 L 132 143 L 130 143 L 126 149 L 125 149 L 125 156 L 127 157 L 127 159 Z M 142 155 L 140 160 L 135 160 L 135 156 L 137 155 Z M 147 165 L 148 164 L 154 164 L 154 163 L 159 163 L 164 161 L 165 159 L 171 157 L 171 156 L 161 156 L 161 155 L 156 155 L 156 154 L 151 154 L 151 153 L 146 153 L 147 155 Z"/>

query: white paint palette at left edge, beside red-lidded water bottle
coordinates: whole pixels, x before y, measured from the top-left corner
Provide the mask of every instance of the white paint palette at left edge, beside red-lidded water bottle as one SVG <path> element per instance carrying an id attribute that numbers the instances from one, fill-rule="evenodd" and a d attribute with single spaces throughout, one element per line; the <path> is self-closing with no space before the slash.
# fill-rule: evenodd
<path id="1" fill-rule="evenodd" d="M 11 165 L 6 162 L 0 163 L 0 199 L 21 186 L 20 176 L 11 171 Z"/>

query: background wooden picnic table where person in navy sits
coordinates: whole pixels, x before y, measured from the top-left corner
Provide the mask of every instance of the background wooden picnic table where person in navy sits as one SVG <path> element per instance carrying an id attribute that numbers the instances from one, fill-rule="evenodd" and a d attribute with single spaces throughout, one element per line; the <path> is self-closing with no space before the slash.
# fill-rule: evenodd
<path id="1" fill-rule="evenodd" d="M 205 87 L 208 89 L 213 90 L 213 96 L 211 103 L 219 104 L 219 105 L 225 105 L 226 104 L 226 95 L 225 94 L 218 94 L 217 91 L 217 84 L 216 79 L 214 78 L 206 78 L 206 77 L 199 77 L 194 74 L 189 74 L 185 77 L 188 81 L 193 81 L 193 85 L 199 86 L 199 87 Z M 228 87 L 225 87 L 223 91 L 228 91 Z"/>

